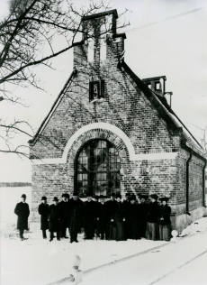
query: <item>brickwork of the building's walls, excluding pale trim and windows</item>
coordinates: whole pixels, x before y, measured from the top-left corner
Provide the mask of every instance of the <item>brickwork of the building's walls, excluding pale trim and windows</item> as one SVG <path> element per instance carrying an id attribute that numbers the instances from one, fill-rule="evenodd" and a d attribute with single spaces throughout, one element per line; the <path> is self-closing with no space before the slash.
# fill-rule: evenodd
<path id="1" fill-rule="evenodd" d="M 100 33 L 101 18 L 91 23 L 96 35 Z M 40 197 L 49 202 L 54 196 L 74 190 L 76 153 L 91 139 L 105 139 L 117 148 L 121 156 L 121 194 L 150 194 L 169 196 L 170 205 L 184 204 L 186 160 L 189 154 L 181 149 L 180 136 L 170 132 L 170 126 L 151 105 L 147 97 L 131 82 L 124 70 L 117 68 L 124 51 L 124 39 L 107 38 L 107 56 L 100 62 L 99 40 L 95 41 L 94 64 L 87 62 L 87 44 L 74 48 L 76 77 L 71 79 L 58 106 L 32 145 L 31 156 L 42 159 L 60 158 L 68 140 L 81 127 L 97 122 L 110 123 L 130 138 L 135 153 L 178 152 L 175 160 L 130 161 L 129 153 L 120 137 L 102 129 L 85 132 L 76 139 L 67 154 L 66 164 L 32 166 L 32 219 L 39 220 L 37 207 Z M 89 102 L 89 82 L 104 79 L 104 97 Z M 202 193 L 202 161 L 193 158 L 190 164 L 190 207 L 198 207 Z M 200 201 L 200 199 L 199 199 Z"/>

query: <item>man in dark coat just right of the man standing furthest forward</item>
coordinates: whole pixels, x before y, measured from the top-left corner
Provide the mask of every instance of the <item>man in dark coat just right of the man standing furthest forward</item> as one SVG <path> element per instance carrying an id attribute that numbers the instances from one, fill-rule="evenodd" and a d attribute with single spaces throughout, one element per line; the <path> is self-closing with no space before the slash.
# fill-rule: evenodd
<path id="1" fill-rule="evenodd" d="M 84 202 L 84 230 L 85 239 L 93 240 L 94 238 L 94 226 L 96 218 L 96 205 L 92 200 L 92 193 L 87 193 L 87 201 Z"/>

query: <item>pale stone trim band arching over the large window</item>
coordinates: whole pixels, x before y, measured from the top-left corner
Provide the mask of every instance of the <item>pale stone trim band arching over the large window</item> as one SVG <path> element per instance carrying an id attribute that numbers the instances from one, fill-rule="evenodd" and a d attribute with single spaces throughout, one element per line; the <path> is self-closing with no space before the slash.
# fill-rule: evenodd
<path id="1" fill-rule="evenodd" d="M 127 147 L 129 152 L 130 161 L 155 161 L 155 160 L 175 160 L 177 156 L 177 152 L 158 152 L 158 153 L 144 153 L 144 154 L 136 154 L 134 151 L 134 147 L 130 142 L 130 138 L 121 131 L 120 128 L 115 126 L 114 124 L 109 123 L 93 123 L 93 124 L 86 124 L 85 126 L 81 127 L 79 130 L 76 131 L 68 140 L 67 145 L 64 149 L 63 155 L 61 158 L 55 159 L 42 159 L 42 160 L 32 160 L 34 164 L 58 164 L 58 163 L 66 163 L 67 162 L 67 154 L 71 150 L 72 145 L 74 142 L 78 141 L 80 136 L 83 136 L 84 133 L 91 131 L 91 130 L 106 130 L 110 133 L 114 133 L 118 136 L 122 142 Z"/>

